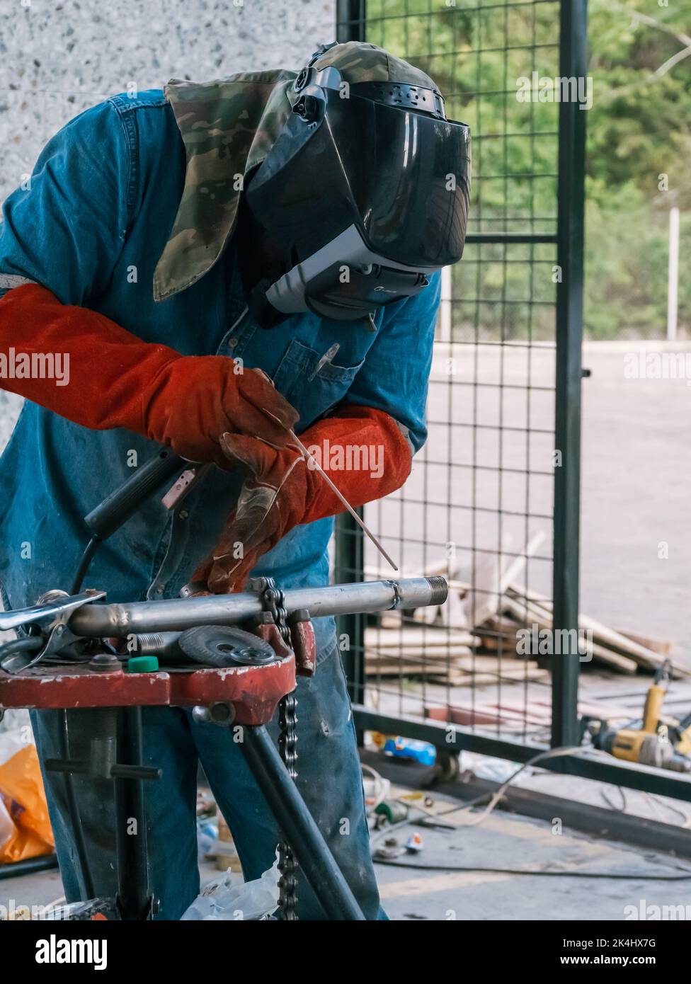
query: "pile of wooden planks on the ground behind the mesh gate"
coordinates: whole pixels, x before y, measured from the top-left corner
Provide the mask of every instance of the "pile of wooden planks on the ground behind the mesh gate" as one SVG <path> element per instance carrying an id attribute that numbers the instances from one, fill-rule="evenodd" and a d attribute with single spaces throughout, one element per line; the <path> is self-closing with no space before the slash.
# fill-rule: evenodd
<path id="1" fill-rule="evenodd" d="M 558 638 L 552 602 L 520 583 L 544 539 L 544 533 L 537 532 L 519 553 L 512 553 L 508 540 L 502 541 L 501 551 L 474 557 L 466 569 L 449 560 L 429 565 L 427 577 L 447 578 L 448 600 L 414 612 L 384 613 L 380 625 L 365 633 L 367 674 L 424 675 L 455 687 L 544 679 L 555 658 L 548 654 L 552 650 L 517 650 L 520 630 L 537 636 L 548 633 L 552 641 Z M 579 615 L 578 643 L 582 665 L 597 663 L 624 674 L 655 672 L 672 649 L 667 641 L 615 631 L 585 614 Z M 672 673 L 691 675 L 680 667 L 673 667 Z"/>

